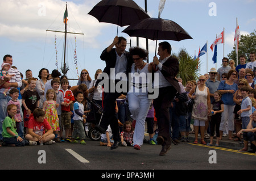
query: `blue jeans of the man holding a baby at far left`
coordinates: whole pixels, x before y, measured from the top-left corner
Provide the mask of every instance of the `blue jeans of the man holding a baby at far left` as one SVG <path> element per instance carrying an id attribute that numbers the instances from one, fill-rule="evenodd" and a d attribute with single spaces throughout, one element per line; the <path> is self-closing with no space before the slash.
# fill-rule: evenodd
<path id="1" fill-rule="evenodd" d="M 7 116 L 7 103 L 11 100 L 9 95 L 5 96 L 0 93 L 0 140 L 3 140 L 2 132 L 3 132 L 3 120 Z"/>

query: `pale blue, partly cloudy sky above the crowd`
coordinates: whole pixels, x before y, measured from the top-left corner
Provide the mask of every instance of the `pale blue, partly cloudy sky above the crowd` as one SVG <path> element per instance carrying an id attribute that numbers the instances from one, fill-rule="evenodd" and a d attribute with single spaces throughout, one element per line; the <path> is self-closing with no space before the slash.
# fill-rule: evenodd
<path id="1" fill-rule="evenodd" d="M 147 12 L 151 18 L 158 18 L 160 0 L 147 0 Z M 102 50 L 108 47 L 117 35 L 117 25 L 100 23 L 88 12 L 100 0 L 0 0 L 0 57 L 13 56 L 13 65 L 24 75 L 31 69 L 33 77 L 38 78 L 39 70 L 47 68 L 59 71 L 63 59 L 64 33 L 46 30 L 64 31 L 63 15 L 68 5 L 68 31 L 84 33 L 69 34 L 67 39 L 68 78 L 77 79 L 77 70 L 89 71 L 94 79 L 97 69 L 104 69 L 105 62 L 100 60 Z M 145 9 L 144 0 L 134 0 Z M 200 57 L 200 74 L 210 68 L 220 68 L 221 60 L 233 50 L 236 19 L 241 35 L 256 30 L 256 0 L 166 0 L 160 18 L 170 19 L 179 24 L 193 39 L 171 41 L 172 52 L 185 48 L 189 55 L 195 56 L 199 49 L 208 45 L 208 53 Z M 126 26 L 127 27 L 127 26 Z M 137 45 L 136 37 L 122 33 L 126 27 L 118 28 L 118 36 L 127 39 L 127 49 Z M 218 44 L 217 64 L 213 64 L 213 52 L 210 45 L 216 35 L 224 31 L 224 44 Z M 55 46 L 56 36 L 56 46 Z M 76 39 L 76 41 L 75 41 Z M 160 41 L 164 40 L 159 40 Z M 139 47 L 146 49 L 146 39 L 139 38 Z M 149 62 L 155 54 L 156 41 L 148 40 Z M 56 47 L 56 48 L 55 48 Z M 76 48 L 77 64 L 74 54 Z M 57 58 L 56 58 L 57 50 Z M 56 66 L 57 62 L 57 66 Z M 76 70 L 77 66 L 77 70 Z M 189 65 L 188 65 L 189 66 Z M 76 85 L 77 81 L 69 81 Z"/>

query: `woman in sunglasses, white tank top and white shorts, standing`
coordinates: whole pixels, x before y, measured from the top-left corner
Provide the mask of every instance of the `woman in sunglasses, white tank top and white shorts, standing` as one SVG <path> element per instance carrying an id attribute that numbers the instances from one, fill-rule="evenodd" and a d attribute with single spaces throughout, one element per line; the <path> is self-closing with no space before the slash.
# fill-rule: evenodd
<path id="1" fill-rule="evenodd" d="M 201 134 L 201 144 L 206 145 L 204 141 L 204 129 L 205 121 L 208 120 L 208 115 L 210 113 L 210 91 L 207 86 L 205 86 L 206 78 L 204 75 L 199 77 L 199 84 L 189 92 L 188 96 L 191 99 L 195 99 L 192 110 L 192 118 L 194 119 L 194 129 L 195 129 L 195 141 L 194 144 L 198 143 L 198 133 L 199 127 Z M 194 94 L 194 92 L 196 92 Z"/>

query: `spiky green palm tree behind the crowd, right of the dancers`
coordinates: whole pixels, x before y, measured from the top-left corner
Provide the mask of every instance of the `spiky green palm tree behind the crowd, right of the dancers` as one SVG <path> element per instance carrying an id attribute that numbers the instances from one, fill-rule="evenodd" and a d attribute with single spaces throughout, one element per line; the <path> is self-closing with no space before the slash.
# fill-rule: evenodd
<path id="1" fill-rule="evenodd" d="M 183 82 L 183 86 L 187 81 L 197 80 L 199 77 L 200 61 L 194 60 L 193 56 L 189 56 L 185 48 L 181 48 L 177 54 L 172 54 L 179 60 L 179 73 L 177 77 L 180 77 Z"/>

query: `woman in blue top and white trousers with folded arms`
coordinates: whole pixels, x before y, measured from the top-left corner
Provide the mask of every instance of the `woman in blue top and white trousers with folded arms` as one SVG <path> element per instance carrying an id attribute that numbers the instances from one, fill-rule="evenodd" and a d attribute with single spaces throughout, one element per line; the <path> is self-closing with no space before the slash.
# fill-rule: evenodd
<path id="1" fill-rule="evenodd" d="M 222 101 L 224 102 L 224 112 L 221 117 L 220 124 L 220 140 L 222 135 L 228 134 L 229 140 L 232 139 L 232 133 L 234 131 L 234 107 L 236 103 L 233 100 L 234 93 L 237 91 L 238 86 L 234 81 L 236 81 L 238 73 L 236 70 L 229 70 L 227 80 L 221 81 L 218 89 L 222 94 Z M 228 123 L 228 128 L 226 128 L 226 122 Z"/>

